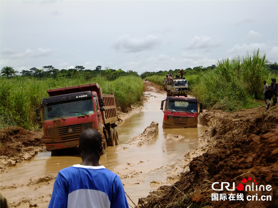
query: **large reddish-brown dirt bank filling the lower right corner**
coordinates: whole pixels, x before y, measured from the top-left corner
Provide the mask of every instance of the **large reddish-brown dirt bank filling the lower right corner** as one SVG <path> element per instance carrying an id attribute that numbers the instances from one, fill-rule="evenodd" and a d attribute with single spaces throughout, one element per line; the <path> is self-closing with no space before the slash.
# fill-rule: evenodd
<path id="1" fill-rule="evenodd" d="M 278 204 L 278 105 L 225 113 L 204 111 L 200 122 L 209 125 L 201 136 L 212 142 L 207 152 L 195 157 L 189 171 L 165 191 L 157 190 L 141 198 L 141 207 L 277 207 Z M 245 179 L 244 179 L 245 178 Z M 250 179 L 250 180 L 249 180 Z M 255 181 L 254 181 L 255 180 Z M 246 182 L 245 182 L 246 181 Z M 214 182 L 244 184 L 243 190 L 212 190 Z M 272 189 L 252 191 L 253 186 L 270 185 Z M 246 189 L 246 186 L 250 185 Z M 241 186 L 241 185 L 240 185 Z M 215 186 L 214 188 L 220 188 Z M 227 200 L 211 200 L 212 193 L 226 194 Z M 242 200 L 228 199 L 229 194 L 243 194 Z M 256 195 L 257 194 L 257 195 Z M 271 201 L 247 200 L 247 196 L 271 196 Z"/>

